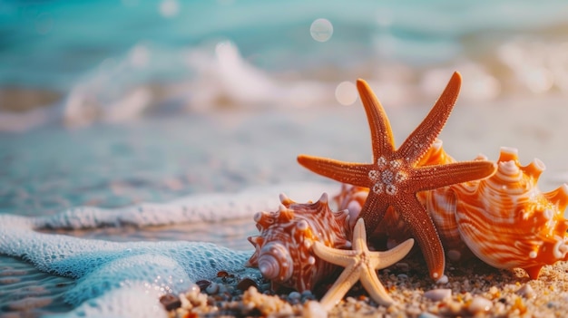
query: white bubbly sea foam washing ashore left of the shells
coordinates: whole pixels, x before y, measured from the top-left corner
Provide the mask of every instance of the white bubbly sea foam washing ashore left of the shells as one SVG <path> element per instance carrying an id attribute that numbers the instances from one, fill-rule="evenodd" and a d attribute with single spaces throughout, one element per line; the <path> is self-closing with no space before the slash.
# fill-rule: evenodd
<path id="1" fill-rule="evenodd" d="M 199 194 L 169 204 L 103 209 L 79 207 L 50 217 L 0 215 L 0 253 L 22 257 L 38 269 L 76 279 L 64 300 L 75 309 L 64 316 L 160 317 L 163 294 L 179 294 L 220 270 L 243 268 L 252 251 L 206 242 L 127 242 L 46 234 L 36 229 L 158 226 L 251 217 L 274 210 L 278 193 L 299 201 L 337 186 L 318 183 L 250 188 L 232 194 Z M 252 222 L 252 220 L 251 220 Z"/>

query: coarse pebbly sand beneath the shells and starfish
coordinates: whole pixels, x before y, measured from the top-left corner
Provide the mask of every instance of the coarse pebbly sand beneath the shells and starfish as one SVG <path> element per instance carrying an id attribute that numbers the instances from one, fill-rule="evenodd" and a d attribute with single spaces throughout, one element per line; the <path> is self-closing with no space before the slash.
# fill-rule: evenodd
<path id="1" fill-rule="evenodd" d="M 313 304 L 318 299 L 314 294 L 274 294 L 267 284 L 243 288 L 245 284 L 237 282 L 247 278 L 225 274 L 201 282 L 201 294 L 189 291 L 164 298 L 162 304 L 171 317 L 562 317 L 567 309 L 566 262 L 544 267 L 539 279 L 531 280 L 523 270 L 497 270 L 470 260 L 466 265 L 449 265 L 446 284 L 425 278 L 425 267 L 415 256 L 379 272 L 396 301 L 388 307 L 370 300 L 357 284 L 325 313 Z M 325 287 L 318 292 L 324 293 Z"/>

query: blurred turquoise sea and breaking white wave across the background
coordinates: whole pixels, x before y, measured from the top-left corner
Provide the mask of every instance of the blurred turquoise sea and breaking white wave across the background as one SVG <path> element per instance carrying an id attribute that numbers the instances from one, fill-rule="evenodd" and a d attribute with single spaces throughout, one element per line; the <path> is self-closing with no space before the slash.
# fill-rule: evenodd
<path id="1" fill-rule="evenodd" d="M 565 94 L 567 17 L 557 1 L 0 1 L 0 130 L 351 104 L 359 77 L 396 107 L 454 70 L 464 99 Z"/>

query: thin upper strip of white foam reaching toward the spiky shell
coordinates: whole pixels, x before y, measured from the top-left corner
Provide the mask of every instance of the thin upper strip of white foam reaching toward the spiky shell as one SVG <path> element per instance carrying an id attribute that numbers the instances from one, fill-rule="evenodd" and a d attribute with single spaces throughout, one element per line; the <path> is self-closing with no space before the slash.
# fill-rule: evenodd
<path id="1" fill-rule="evenodd" d="M 164 226 L 186 222 L 219 222 L 252 217 L 262 210 L 279 207 L 279 194 L 296 202 L 317 200 L 322 193 L 338 192 L 337 184 L 288 183 L 272 187 L 247 188 L 237 193 L 205 193 L 180 198 L 166 204 L 144 203 L 139 206 L 105 209 L 75 207 L 54 216 L 38 217 L 36 227 L 94 228 L 101 226 Z"/>

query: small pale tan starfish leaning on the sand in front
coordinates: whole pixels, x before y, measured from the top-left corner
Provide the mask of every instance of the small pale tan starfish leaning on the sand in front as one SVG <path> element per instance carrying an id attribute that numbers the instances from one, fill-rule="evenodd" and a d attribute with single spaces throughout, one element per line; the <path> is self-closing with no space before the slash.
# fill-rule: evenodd
<path id="1" fill-rule="evenodd" d="M 389 306 L 394 300 L 387 294 L 385 287 L 380 283 L 377 270 L 386 268 L 400 261 L 410 252 L 414 239 L 409 238 L 402 244 L 386 252 L 371 252 L 367 247 L 367 232 L 365 221 L 357 220 L 353 229 L 352 250 L 332 248 L 320 242 L 315 242 L 313 251 L 319 258 L 335 265 L 345 267 L 338 280 L 329 288 L 320 303 L 329 311 L 348 293 L 351 286 L 361 280 L 361 284 L 368 294 L 378 304 Z"/>

